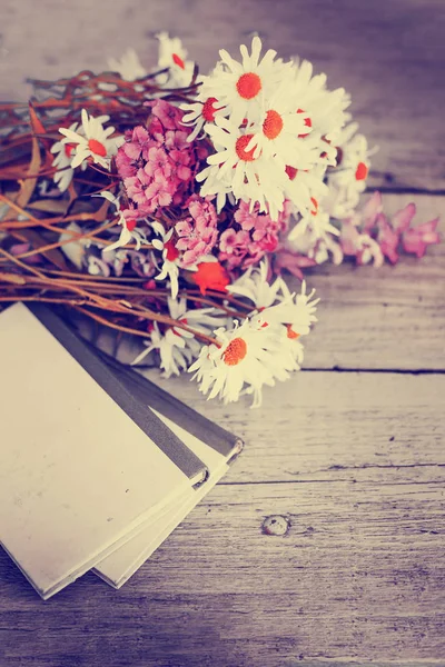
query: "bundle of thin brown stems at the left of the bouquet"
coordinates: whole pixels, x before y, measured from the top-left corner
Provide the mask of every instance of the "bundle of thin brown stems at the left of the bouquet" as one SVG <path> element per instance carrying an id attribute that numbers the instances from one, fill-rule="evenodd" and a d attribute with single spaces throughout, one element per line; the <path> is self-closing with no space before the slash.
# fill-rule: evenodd
<path id="1" fill-rule="evenodd" d="M 184 89 L 159 88 L 155 83 L 159 73 L 137 83 L 112 72 L 89 71 L 57 81 L 32 80 L 34 96 L 29 103 L 0 103 L 0 310 L 14 301 L 42 301 L 70 308 L 121 334 L 150 338 L 150 322 L 156 321 L 189 331 L 202 342 L 216 342 L 166 315 L 169 289 L 147 289 L 147 278 L 134 272 L 120 277 L 89 275 L 61 251 L 75 240 L 93 241 L 99 247 L 111 243 L 107 230 L 116 222 L 107 221 L 110 202 L 91 195 L 118 186 L 117 175 L 111 172 L 110 179 L 109 172 L 90 163 L 87 171 L 75 176 L 63 195 L 46 196 L 39 188 L 39 179 L 51 179 L 56 171 L 50 148 L 60 139 L 59 127 L 79 120 L 81 109 L 108 115 L 122 133 L 146 122 L 145 101 L 187 101 L 196 90 L 197 71 Z M 81 231 L 73 230 L 72 222 Z M 126 246 L 131 248 L 135 245 Z M 148 243 L 141 246 L 149 248 Z M 201 295 L 191 281 L 190 289 L 181 288 L 178 296 L 238 319 L 251 311 L 227 292 Z"/>

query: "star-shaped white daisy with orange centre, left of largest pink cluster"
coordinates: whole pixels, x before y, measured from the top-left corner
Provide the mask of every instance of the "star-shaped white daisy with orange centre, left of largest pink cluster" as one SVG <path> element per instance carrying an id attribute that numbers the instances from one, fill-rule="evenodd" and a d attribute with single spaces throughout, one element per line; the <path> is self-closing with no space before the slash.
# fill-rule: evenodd
<path id="1" fill-rule="evenodd" d="M 105 169 L 110 168 L 110 158 L 116 153 L 117 149 L 125 141 L 125 137 L 116 137 L 109 139 L 113 133 L 115 128 L 109 127 L 103 129 L 102 123 L 109 120 L 109 116 L 93 118 L 89 116 L 86 109 L 82 109 L 82 128 L 81 131 L 75 132 L 71 129 L 59 128 L 59 132 L 65 135 L 62 143 L 75 145 L 76 155 L 72 158 L 71 167 L 75 169 L 91 158 L 93 162 L 100 165 Z"/>

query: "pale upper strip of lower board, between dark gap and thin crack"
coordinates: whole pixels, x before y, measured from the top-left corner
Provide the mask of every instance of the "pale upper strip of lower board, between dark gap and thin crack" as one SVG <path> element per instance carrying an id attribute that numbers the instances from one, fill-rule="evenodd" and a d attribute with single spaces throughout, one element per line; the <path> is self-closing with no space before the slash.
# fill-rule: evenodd
<path id="1" fill-rule="evenodd" d="M 152 381 L 239 435 L 246 449 L 222 484 L 438 481 L 445 475 L 445 376 L 301 371 L 250 399 L 207 401 L 185 376 Z"/>

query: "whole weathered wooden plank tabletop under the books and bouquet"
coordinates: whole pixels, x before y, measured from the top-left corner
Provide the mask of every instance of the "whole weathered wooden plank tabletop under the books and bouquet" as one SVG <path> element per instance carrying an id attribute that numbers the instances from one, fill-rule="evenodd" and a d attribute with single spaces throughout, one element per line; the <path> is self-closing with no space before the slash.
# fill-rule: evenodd
<path id="1" fill-rule="evenodd" d="M 161 29 L 204 69 L 258 30 L 350 91 L 389 212 L 445 213 L 443 0 L 3 0 L 0 26 L 3 99 L 129 44 L 148 63 Z M 43 604 L 1 552 L 0 666 L 444 665 L 444 269 L 442 246 L 308 275 L 306 369 L 260 410 L 162 381 L 244 455 L 119 593 L 87 575 Z"/>

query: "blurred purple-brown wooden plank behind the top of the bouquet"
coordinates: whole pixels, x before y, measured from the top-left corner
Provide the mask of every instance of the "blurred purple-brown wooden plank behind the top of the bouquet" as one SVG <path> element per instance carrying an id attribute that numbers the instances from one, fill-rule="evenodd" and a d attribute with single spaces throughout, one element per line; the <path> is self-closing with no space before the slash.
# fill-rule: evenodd
<path id="1" fill-rule="evenodd" d="M 129 46 L 150 66 L 160 30 L 181 37 L 207 71 L 219 48 L 236 53 L 257 30 L 267 47 L 313 60 L 332 87 L 352 93 L 352 111 L 370 145 L 380 147 L 374 183 L 444 189 L 442 0 L 278 0 L 273 10 L 257 0 L 233 8 L 218 0 L 165 0 L 149 9 L 144 0 L 121 0 L 112 12 L 107 0 L 3 0 L 0 21 L 3 100 L 28 96 L 26 77 L 100 70 Z"/>

